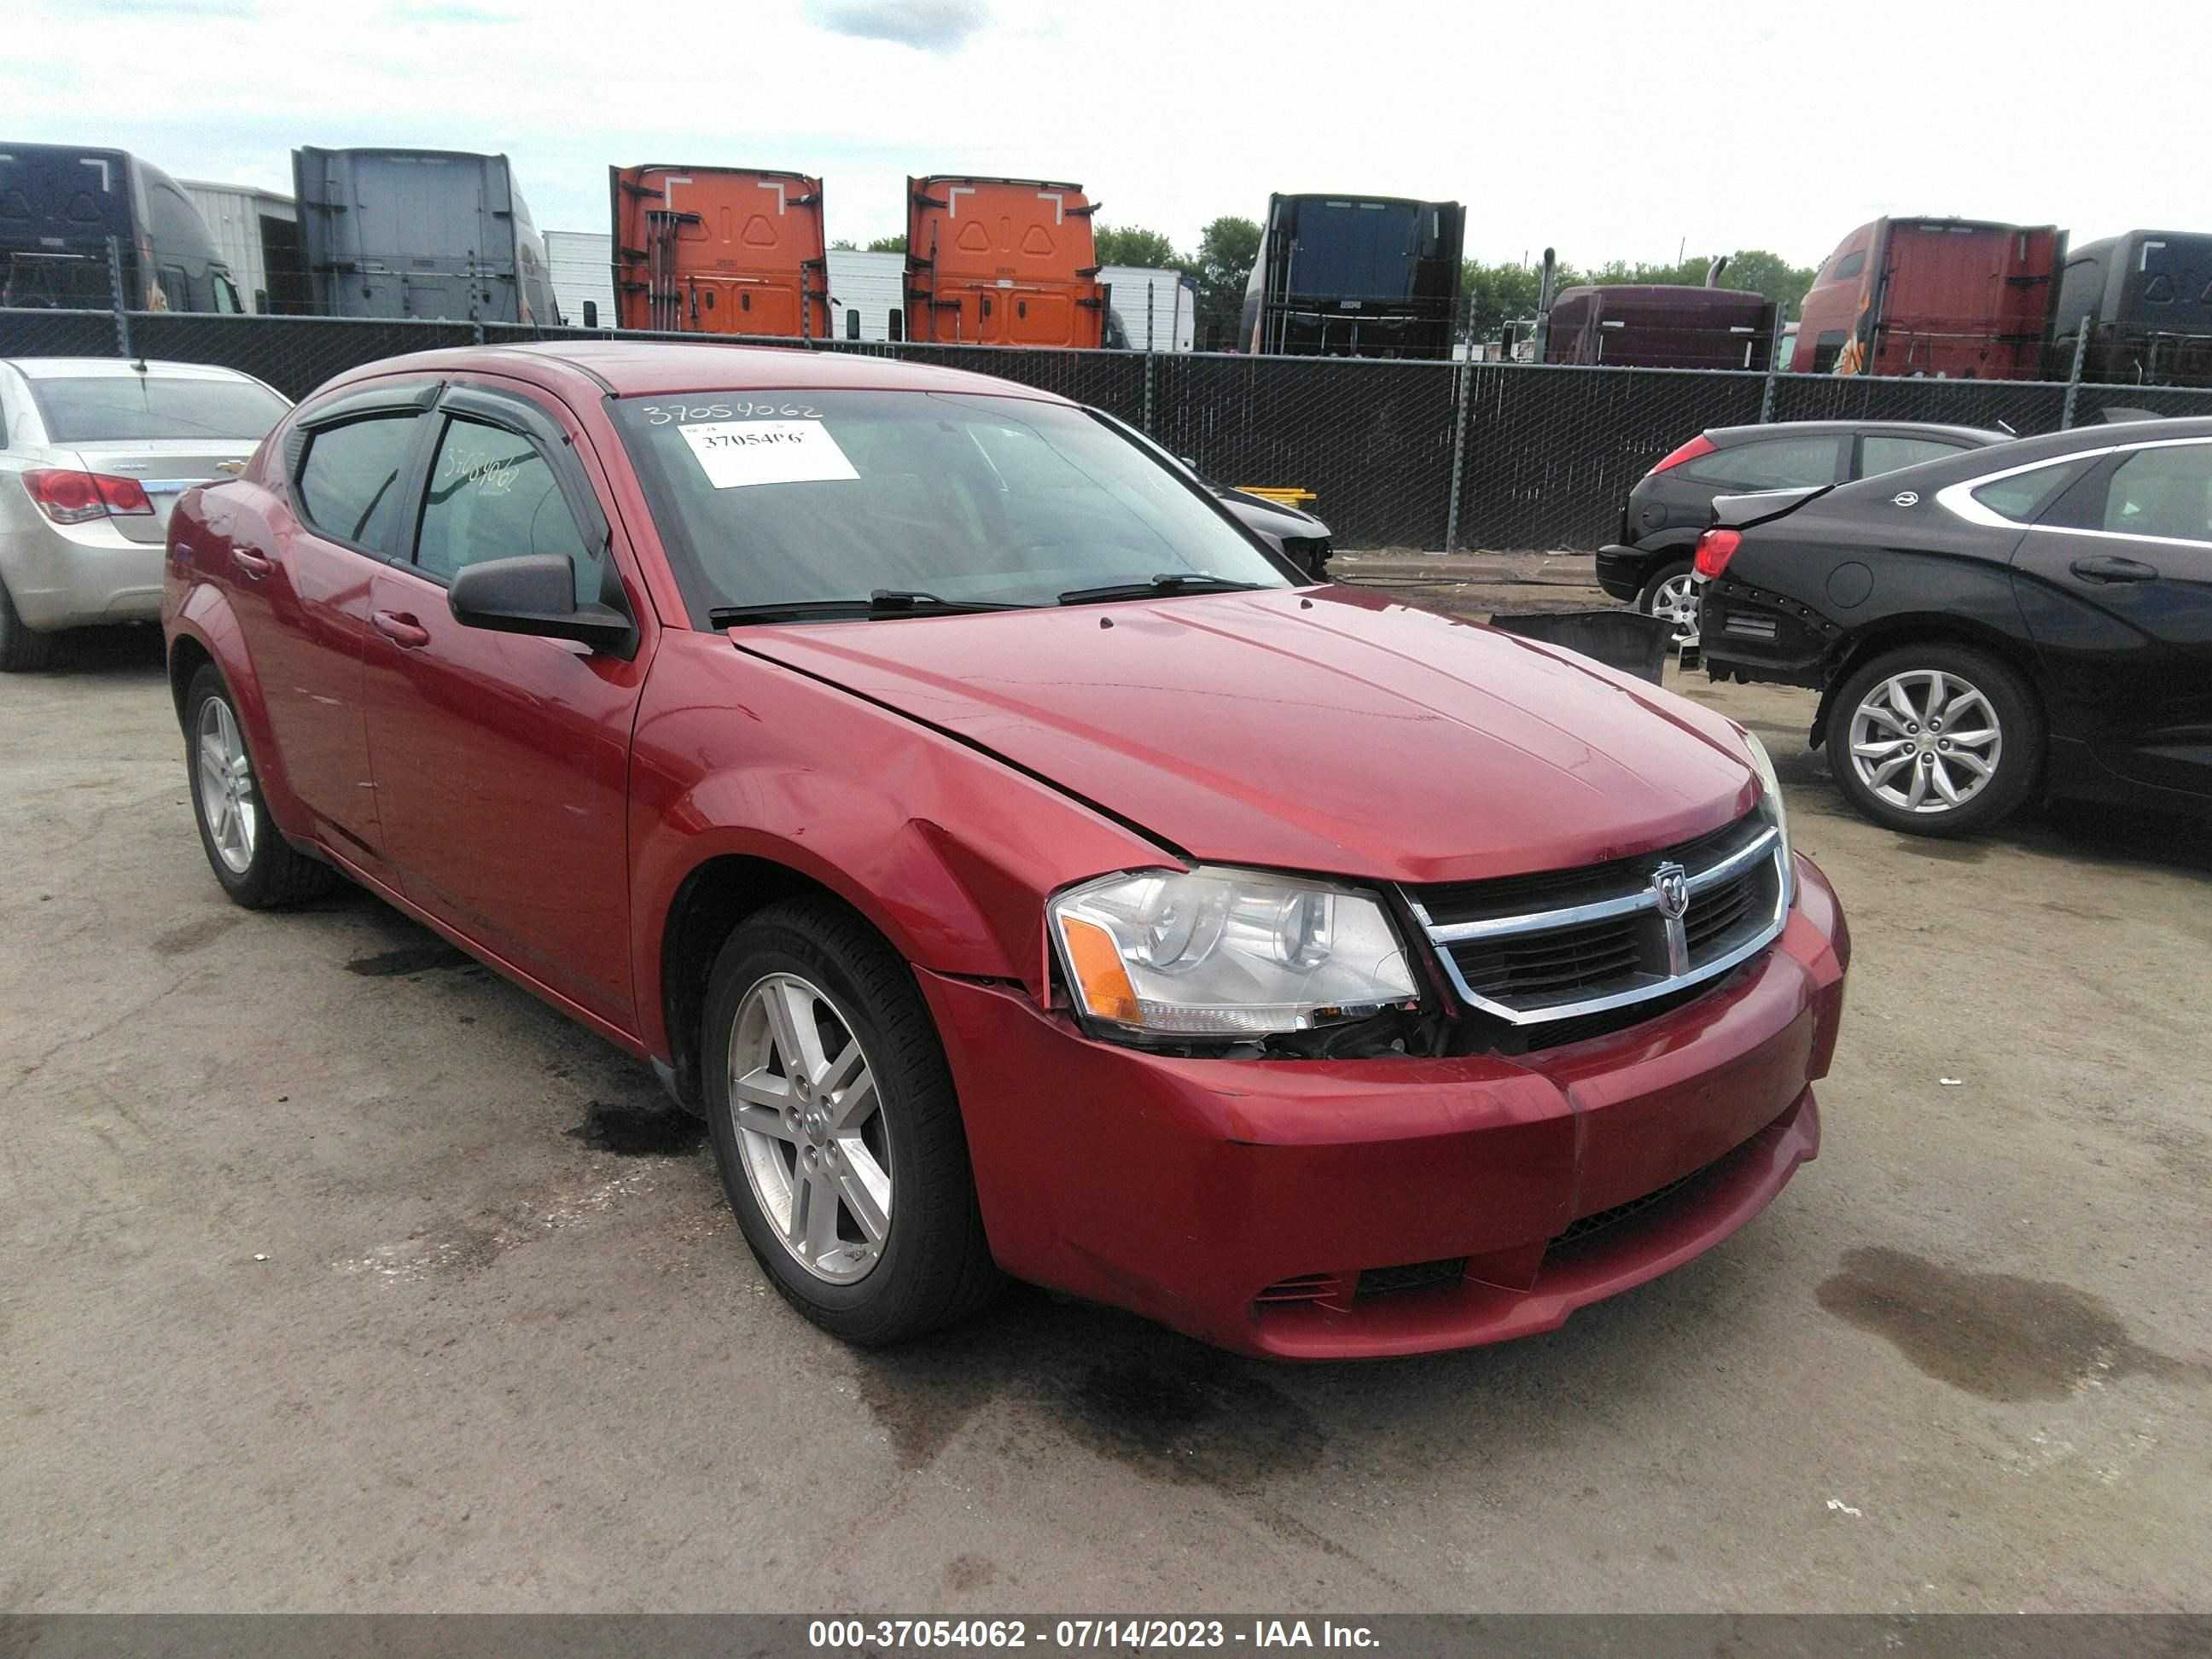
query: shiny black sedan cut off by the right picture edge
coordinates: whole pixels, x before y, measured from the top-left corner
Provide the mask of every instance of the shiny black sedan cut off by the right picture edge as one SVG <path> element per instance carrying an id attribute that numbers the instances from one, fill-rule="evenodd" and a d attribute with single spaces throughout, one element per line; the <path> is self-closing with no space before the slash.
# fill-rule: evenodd
<path id="1" fill-rule="evenodd" d="M 2212 812 L 2212 418 L 1723 495 L 1697 573 L 1712 677 L 1818 688 L 1812 743 L 1876 823 Z"/>

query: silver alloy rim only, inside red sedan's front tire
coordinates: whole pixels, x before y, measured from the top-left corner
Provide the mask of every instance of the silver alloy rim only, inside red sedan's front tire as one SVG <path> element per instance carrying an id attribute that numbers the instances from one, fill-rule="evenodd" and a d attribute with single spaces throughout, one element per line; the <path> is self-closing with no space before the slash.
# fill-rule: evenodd
<path id="1" fill-rule="evenodd" d="M 814 1279 L 867 1279 L 891 1237 L 891 1148 L 876 1073 L 818 984 L 770 973 L 730 1026 L 730 1119 L 752 1197 Z"/>

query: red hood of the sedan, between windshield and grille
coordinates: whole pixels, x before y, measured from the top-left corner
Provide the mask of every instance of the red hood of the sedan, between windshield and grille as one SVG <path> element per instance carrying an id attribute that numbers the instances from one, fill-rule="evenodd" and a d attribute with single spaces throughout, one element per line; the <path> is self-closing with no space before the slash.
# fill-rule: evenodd
<path id="1" fill-rule="evenodd" d="M 1358 588 L 730 639 L 1219 863 L 1407 883 L 1559 869 L 1717 830 L 1759 792 L 1721 717 Z"/>

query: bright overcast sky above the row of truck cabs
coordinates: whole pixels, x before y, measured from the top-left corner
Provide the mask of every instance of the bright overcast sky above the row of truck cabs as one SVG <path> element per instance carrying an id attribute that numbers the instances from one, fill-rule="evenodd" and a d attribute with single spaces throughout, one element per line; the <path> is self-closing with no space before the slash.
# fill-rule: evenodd
<path id="1" fill-rule="evenodd" d="M 29 11 L 24 11 L 29 4 Z M 542 230 L 611 161 L 1075 181 L 1192 248 L 1270 190 L 1464 201 L 1467 252 L 1814 263 L 1880 212 L 2212 228 L 2212 7 L 1692 0 L 13 0 L 0 139 L 290 192 L 294 144 L 504 150 Z M 2106 18 L 2115 20 L 2108 24 Z"/>

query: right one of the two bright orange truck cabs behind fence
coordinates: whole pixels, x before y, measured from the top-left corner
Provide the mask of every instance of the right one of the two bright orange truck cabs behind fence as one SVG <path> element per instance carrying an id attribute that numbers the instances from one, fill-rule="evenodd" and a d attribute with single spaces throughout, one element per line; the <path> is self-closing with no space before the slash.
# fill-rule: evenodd
<path id="1" fill-rule="evenodd" d="M 1093 212 L 1079 184 L 907 179 L 909 338 L 1104 345 Z"/>

